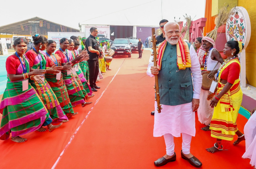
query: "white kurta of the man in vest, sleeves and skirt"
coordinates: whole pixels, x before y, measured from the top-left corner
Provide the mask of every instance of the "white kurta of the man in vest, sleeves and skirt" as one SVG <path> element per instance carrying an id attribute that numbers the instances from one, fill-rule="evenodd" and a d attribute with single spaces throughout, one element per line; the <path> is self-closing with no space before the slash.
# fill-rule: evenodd
<path id="1" fill-rule="evenodd" d="M 191 73 L 194 86 L 193 98 L 199 99 L 201 86 L 202 86 L 202 75 L 200 70 L 200 64 L 196 51 L 191 45 L 190 49 L 191 58 Z M 154 77 L 152 75 L 150 67 L 154 66 L 152 62 L 153 56 L 149 59 L 147 75 Z M 179 82 L 177 82 L 179 83 Z M 174 98 L 175 99 L 175 98 Z M 161 113 L 156 110 L 157 104 L 155 102 L 155 115 L 154 115 L 154 137 L 160 137 L 164 134 L 172 134 L 174 137 L 180 137 L 181 133 L 186 133 L 190 136 L 195 136 L 195 113 L 192 112 L 192 102 L 181 104 L 177 106 L 169 106 L 162 104 Z"/>

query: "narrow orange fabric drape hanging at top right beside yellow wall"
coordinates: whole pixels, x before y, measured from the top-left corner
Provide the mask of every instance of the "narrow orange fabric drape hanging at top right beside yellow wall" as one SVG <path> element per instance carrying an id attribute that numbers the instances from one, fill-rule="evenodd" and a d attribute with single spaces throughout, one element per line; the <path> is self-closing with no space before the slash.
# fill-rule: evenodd
<path id="1" fill-rule="evenodd" d="M 206 25 L 204 27 L 205 36 L 215 27 L 215 17 L 212 17 L 212 0 L 206 0 L 204 18 L 207 18 Z"/>

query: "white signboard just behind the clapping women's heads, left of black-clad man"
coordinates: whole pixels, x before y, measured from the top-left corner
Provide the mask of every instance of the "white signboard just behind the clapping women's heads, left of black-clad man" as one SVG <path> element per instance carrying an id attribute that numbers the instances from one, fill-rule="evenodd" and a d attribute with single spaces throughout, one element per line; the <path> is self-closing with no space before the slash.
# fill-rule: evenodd
<path id="1" fill-rule="evenodd" d="M 57 48 L 60 48 L 60 39 L 70 39 L 71 36 L 84 37 L 84 32 L 48 32 L 48 40 L 56 41 Z"/>

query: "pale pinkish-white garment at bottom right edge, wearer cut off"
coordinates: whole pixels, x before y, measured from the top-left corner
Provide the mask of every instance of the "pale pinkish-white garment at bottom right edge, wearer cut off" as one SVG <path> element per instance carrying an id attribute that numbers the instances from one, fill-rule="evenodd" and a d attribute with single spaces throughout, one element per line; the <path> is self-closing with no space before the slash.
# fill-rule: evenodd
<path id="1" fill-rule="evenodd" d="M 242 158 L 251 159 L 250 165 L 256 165 L 256 112 L 252 114 L 244 126 L 246 151 Z"/>

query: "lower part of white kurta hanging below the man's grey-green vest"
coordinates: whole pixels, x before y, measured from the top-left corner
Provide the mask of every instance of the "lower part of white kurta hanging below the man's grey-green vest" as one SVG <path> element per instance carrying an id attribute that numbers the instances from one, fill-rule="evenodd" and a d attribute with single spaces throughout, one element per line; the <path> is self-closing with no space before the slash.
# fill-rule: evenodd
<path id="1" fill-rule="evenodd" d="M 195 112 L 192 112 L 192 102 L 177 106 L 162 104 L 161 113 L 158 113 L 156 108 L 157 103 L 155 102 L 154 137 L 161 137 L 164 134 L 180 137 L 181 133 L 190 136 L 196 135 Z"/>

